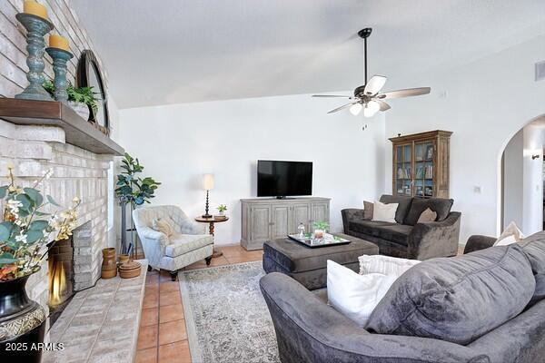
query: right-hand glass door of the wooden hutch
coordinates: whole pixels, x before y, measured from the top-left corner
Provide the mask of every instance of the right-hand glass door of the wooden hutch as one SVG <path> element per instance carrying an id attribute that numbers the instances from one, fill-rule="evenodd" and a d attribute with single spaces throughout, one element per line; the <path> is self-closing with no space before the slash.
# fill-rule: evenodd
<path id="1" fill-rule="evenodd" d="M 433 142 L 414 143 L 414 196 L 430 198 L 434 195 Z"/>

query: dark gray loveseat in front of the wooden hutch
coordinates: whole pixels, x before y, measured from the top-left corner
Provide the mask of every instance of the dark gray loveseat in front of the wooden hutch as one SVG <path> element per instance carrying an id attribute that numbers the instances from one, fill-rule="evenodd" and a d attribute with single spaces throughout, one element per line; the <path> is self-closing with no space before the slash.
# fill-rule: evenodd
<path id="1" fill-rule="evenodd" d="M 364 219 L 362 209 L 342 210 L 344 233 L 369 240 L 381 255 L 412 260 L 451 257 L 458 253 L 461 213 L 451 211 L 452 200 L 382 195 L 383 203 L 399 203 L 396 223 Z M 430 208 L 437 220 L 417 223 L 421 212 Z"/>

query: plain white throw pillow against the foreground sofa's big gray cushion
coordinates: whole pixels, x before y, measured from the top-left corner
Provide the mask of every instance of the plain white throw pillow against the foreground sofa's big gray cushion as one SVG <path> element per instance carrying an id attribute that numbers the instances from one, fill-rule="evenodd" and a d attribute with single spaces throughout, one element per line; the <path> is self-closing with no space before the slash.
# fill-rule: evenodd
<path id="1" fill-rule="evenodd" d="M 365 328 L 372 310 L 395 280 L 395 276 L 380 273 L 359 275 L 337 262 L 327 260 L 329 304 L 362 328 Z"/>

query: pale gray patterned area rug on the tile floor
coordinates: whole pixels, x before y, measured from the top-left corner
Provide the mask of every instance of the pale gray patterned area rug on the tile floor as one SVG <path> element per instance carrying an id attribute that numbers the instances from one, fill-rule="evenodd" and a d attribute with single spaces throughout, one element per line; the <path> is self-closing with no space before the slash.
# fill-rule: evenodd
<path id="1" fill-rule="evenodd" d="M 261 261 L 178 274 L 193 363 L 280 362 Z"/>

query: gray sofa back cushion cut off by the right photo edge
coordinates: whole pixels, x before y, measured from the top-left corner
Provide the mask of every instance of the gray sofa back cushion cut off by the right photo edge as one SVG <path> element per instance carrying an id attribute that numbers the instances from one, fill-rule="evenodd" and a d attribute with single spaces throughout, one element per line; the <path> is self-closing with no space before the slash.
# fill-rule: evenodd
<path id="1" fill-rule="evenodd" d="M 536 290 L 532 303 L 545 298 L 545 231 L 532 234 L 520 241 L 522 250 L 530 260 L 531 270 L 536 280 Z"/>

